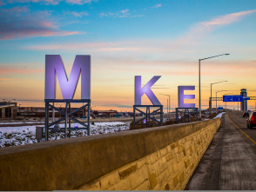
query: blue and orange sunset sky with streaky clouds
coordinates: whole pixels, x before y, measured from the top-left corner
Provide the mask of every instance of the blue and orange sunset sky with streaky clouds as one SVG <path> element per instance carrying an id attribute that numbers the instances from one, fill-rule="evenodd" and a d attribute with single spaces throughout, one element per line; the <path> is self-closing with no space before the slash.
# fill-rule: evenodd
<path id="1" fill-rule="evenodd" d="M 68 76 L 76 55 L 91 55 L 94 109 L 131 111 L 134 76 L 161 76 L 152 90 L 165 109 L 159 94 L 173 109 L 178 86 L 194 85 L 199 107 L 199 59 L 225 53 L 201 62 L 202 108 L 219 81 L 212 96 L 256 96 L 255 23 L 255 0 L 0 0 L 0 99 L 44 106 L 45 55 L 62 56 Z"/>

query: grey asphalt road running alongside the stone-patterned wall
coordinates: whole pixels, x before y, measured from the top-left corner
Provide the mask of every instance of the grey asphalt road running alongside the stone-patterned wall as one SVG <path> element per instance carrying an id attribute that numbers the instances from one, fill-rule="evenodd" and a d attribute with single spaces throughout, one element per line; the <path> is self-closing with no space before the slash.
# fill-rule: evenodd
<path id="1" fill-rule="evenodd" d="M 185 189 L 255 190 L 255 135 L 255 128 L 246 128 L 246 118 L 242 117 L 242 112 L 225 114 Z"/>

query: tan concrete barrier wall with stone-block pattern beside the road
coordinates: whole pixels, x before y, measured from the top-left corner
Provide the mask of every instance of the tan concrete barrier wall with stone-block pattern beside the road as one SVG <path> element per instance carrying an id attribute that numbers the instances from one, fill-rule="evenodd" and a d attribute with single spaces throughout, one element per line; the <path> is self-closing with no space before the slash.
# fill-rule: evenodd
<path id="1" fill-rule="evenodd" d="M 0 189 L 184 189 L 219 124 L 217 118 L 0 149 Z"/>

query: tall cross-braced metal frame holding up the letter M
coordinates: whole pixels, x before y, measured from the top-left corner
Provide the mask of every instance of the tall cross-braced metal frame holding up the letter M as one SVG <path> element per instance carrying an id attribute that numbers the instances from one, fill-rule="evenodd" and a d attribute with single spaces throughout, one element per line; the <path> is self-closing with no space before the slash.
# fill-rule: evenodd
<path id="1" fill-rule="evenodd" d="M 71 137 L 71 130 L 77 129 L 86 129 L 87 135 L 90 136 L 90 109 L 91 109 L 91 99 L 45 99 L 45 122 L 44 122 L 44 141 L 49 140 L 49 129 L 51 126 L 57 124 L 58 122 L 64 121 L 64 137 L 67 138 L 67 131 L 69 131 L 69 137 Z M 65 110 L 62 111 L 56 108 L 53 104 L 50 103 L 65 103 Z M 83 103 L 83 106 L 71 111 L 71 103 Z M 87 118 L 87 125 L 84 122 L 80 122 L 77 120 L 74 114 L 76 114 L 79 110 L 88 107 L 88 118 Z M 60 114 L 64 115 L 64 117 L 59 118 L 57 121 L 49 122 L 49 109 L 55 109 Z M 71 128 L 71 120 L 73 122 L 77 122 L 84 126 L 83 128 Z"/>

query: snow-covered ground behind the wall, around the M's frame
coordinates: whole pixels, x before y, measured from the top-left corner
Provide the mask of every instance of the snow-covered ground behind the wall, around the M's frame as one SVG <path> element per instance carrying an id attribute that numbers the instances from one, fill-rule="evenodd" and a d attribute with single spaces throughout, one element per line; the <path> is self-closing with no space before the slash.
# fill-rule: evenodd
<path id="1" fill-rule="evenodd" d="M 82 126 L 77 123 L 71 123 L 71 127 Z M 60 124 L 64 128 L 64 123 Z M 94 122 L 91 124 L 90 135 L 109 134 L 130 129 L 130 122 Z M 71 137 L 87 136 L 86 130 L 73 130 Z M 53 133 L 50 130 L 49 140 L 64 138 L 64 132 Z M 36 125 L 21 127 L 0 127 L 0 148 L 24 145 L 37 142 Z"/>

